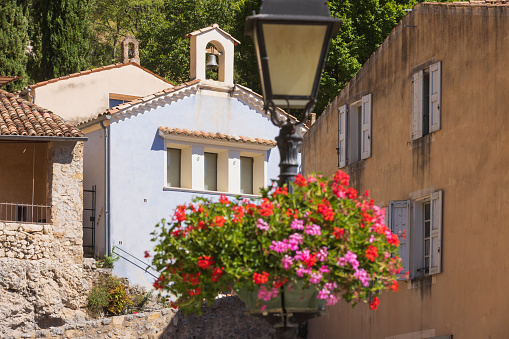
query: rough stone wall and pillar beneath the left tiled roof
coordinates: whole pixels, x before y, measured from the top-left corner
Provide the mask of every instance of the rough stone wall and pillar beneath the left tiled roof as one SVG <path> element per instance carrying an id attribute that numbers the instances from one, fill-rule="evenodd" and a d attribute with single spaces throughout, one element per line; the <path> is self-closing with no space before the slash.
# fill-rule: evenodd
<path id="1" fill-rule="evenodd" d="M 49 143 L 49 224 L 0 221 L 0 337 L 84 317 L 83 143 Z"/>

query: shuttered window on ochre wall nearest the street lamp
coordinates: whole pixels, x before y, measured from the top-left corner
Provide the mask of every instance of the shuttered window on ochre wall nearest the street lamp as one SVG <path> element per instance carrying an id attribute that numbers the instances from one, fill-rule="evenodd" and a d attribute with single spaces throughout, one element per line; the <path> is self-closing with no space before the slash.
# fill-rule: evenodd
<path id="1" fill-rule="evenodd" d="M 371 157 L 372 94 L 338 109 L 338 167 Z"/>

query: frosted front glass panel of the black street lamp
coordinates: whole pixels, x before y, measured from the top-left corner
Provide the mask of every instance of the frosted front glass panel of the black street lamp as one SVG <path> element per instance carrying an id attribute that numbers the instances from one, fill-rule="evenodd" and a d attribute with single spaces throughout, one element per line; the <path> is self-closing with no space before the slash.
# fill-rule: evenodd
<path id="1" fill-rule="evenodd" d="M 310 96 L 326 25 L 263 24 L 273 95 Z"/>

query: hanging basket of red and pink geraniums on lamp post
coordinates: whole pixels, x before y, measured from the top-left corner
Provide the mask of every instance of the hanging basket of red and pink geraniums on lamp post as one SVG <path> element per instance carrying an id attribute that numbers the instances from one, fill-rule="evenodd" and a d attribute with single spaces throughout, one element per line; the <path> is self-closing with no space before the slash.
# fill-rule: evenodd
<path id="1" fill-rule="evenodd" d="M 330 180 L 298 175 L 292 192 L 272 186 L 260 198 L 178 206 L 153 233 L 161 273 L 154 287 L 196 314 L 231 287 L 251 312 L 280 310 L 282 292 L 286 311 L 321 310 L 340 298 L 376 309 L 380 290 L 398 288 L 398 235 L 348 180 L 341 171 Z"/>

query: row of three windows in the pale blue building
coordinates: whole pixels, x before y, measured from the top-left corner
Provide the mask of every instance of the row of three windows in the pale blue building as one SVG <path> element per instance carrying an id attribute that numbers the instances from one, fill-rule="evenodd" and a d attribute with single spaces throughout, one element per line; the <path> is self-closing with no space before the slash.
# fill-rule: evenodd
<path id="1" fill-rule="evenodd" d="M 268 151 L 273 145 L 204 143 L 203 138 L 162 135 L 165 190 L 250 195 L 267 185 Z"/>

